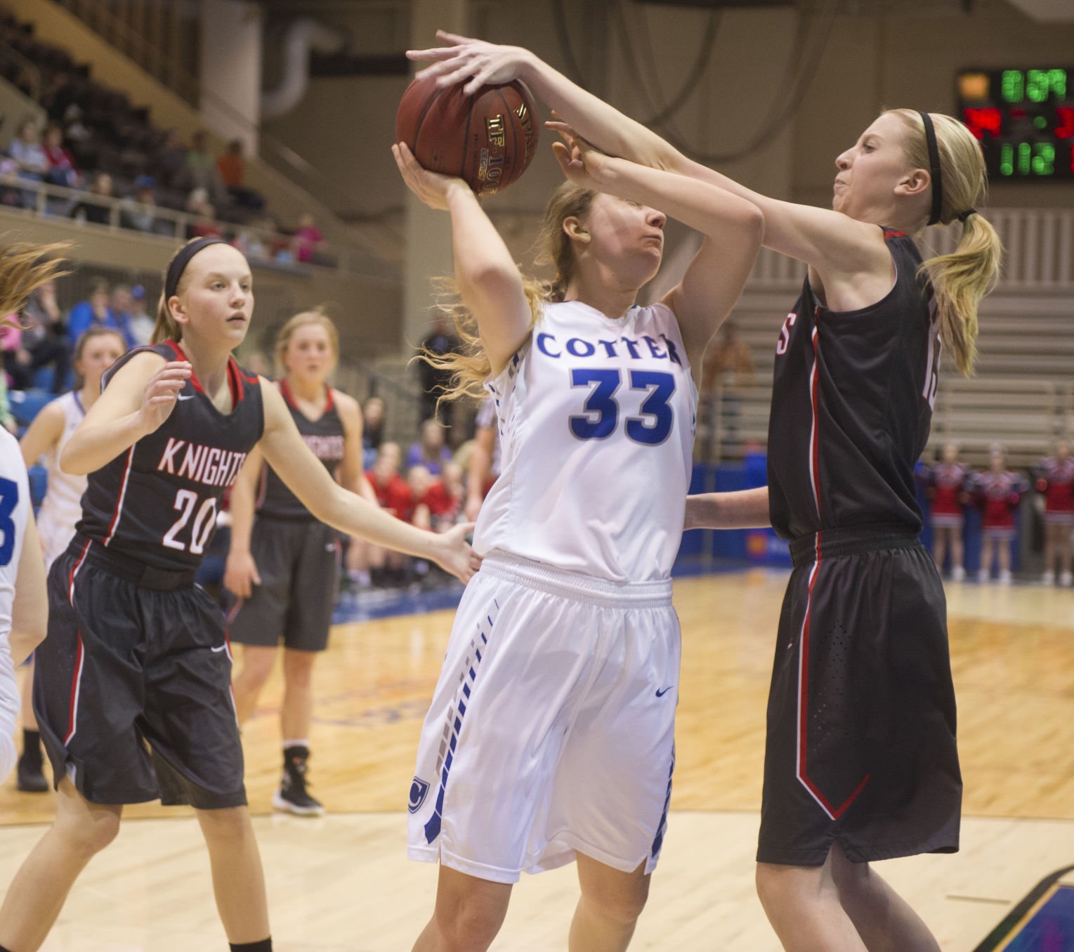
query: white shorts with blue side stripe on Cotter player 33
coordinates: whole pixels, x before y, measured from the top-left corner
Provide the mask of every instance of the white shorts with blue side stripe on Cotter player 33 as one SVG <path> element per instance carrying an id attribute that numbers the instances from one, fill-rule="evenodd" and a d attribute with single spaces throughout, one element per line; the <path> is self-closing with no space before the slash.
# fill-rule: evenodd
<path id="1" fill-rule="evenodd" d="M 410 787 L 409 856 L 494 882 L 659 857 L 674 769 L 669 580 L 489 554 L 455 615 Z"/>

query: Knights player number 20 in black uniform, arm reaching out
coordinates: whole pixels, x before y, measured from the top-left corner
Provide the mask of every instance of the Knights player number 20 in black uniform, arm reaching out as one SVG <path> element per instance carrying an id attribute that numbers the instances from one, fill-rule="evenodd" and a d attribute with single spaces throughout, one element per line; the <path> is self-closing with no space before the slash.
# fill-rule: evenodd
<path id="1" fill-rule="evenodd" d="M 276 389 L 238 367 L 231 351 L 252 308 L 241 253 L 215 239 L 185 245 L 165 275 L 160 343 L 108 374 L 61 455 L 89 488 L 75 542 L 49 572 L 34 679 L 57 816 L 4 898 L 0 949 L 39 948 L 122 805 L 159 796 L 197 809 L 231 948 L 270 952 L 223 619 L 193 585 L 220 495 L 256 445 L 325 521 L 469 574 L 461 537 L 400 527 L 336 486 Z"/>

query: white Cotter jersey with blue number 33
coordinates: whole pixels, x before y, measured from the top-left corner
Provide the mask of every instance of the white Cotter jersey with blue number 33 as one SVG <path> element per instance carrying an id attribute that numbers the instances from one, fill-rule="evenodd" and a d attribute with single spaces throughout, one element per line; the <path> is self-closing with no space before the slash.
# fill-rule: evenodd
<path id="1" fill-rule="evenodd" d="M 502 472 L 474 547 L 613 581 L 671 572 L 686 505 L 697 388 L 674 314 L 547 304 L 485 385 Z"/>

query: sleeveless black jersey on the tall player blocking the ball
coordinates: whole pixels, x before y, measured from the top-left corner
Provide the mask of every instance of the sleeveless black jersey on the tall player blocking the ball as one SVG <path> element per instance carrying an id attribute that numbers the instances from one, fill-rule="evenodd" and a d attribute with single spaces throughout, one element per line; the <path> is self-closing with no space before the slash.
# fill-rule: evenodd
<path id="1" fill-rule="evenodd" d="M 879 302 L 832 312 L 809 277 L 775 346 L 769 509 L 784 538 L 884 523 L 920 532 L 914 464 L 935 399 L 932 287 L 904 232 L 884 229 L 896 277 Z"/>

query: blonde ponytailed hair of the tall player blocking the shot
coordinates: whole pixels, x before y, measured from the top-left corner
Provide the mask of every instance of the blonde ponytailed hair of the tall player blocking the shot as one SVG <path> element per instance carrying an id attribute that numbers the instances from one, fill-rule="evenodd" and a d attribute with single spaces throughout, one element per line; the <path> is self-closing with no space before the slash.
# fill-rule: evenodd
<path id="1" fill-rule="evenodd" d="M 925 124 L 914 110 L 887 110 L 910 131 L 903 147 L 911 167 L 929 168 Z M 988 177 L 981 145 L 958 119 L 929 113 L 937 133 L 943 196 L 940 223 L 962 218 L 958 247 L 921 264 L 935 293 L 940 335 L 955 365 L 966 376 L 973 373 L 977 357 L 977 305 L 991 290 L 999 274 L 1003 245 L 991 223 L 975 206 L 988 192 Z"/>

